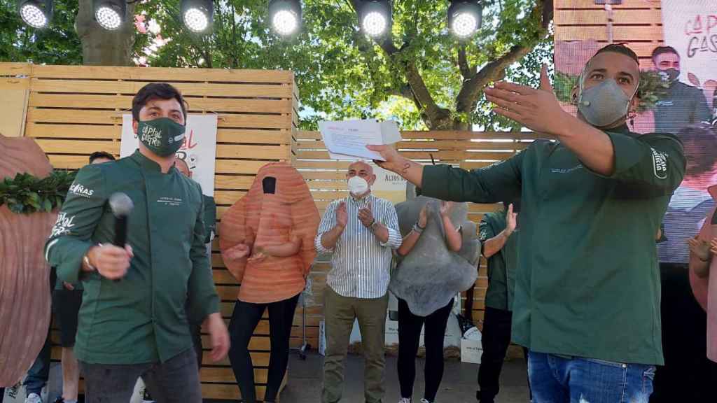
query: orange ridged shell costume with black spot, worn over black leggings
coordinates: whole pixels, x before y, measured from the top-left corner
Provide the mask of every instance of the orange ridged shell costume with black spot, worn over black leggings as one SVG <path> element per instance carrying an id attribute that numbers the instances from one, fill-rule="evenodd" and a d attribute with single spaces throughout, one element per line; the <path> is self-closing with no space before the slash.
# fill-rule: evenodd
<path id="1" fill-rule="evenodd" d="M 262 182 L 273 177 L 275 193 L 265 194 Z M 320 217 L 303 176 L 288 163 L 268 163 L 257 173 L 249 192 L 222 216 L 219 248 L 224 263 L 242 283 L 238 299 L 248 303 L 272 303 L 300 293 L 316 257 L 314 238 Z M 247 257 L 232 260 L 225 252 L 239 243 L 282 245 L 300 239 L 300 250 L 290 257 Z"/>

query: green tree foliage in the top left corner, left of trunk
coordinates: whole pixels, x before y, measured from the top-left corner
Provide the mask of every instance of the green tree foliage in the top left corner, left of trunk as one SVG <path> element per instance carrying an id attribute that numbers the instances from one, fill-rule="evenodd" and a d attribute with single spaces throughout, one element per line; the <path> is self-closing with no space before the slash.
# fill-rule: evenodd
<path id="1" fill-rule="evenodd" d="M 20 18 L 16 0 L 0 0 L 0 62 L 81 65 L 76 14 L 77 0 L 54 0 L 49 27 L 34 29 Z"/>

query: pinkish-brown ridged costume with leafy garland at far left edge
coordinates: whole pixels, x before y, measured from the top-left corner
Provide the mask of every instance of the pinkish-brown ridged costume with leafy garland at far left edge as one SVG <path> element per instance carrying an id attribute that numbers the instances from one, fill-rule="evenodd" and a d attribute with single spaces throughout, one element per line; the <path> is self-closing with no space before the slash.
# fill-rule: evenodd
<path id="1" fill-rule="evenodd" d="M 0 149 L 0 180 L 52 171 L 32 138 L 0 135 Z M 57 212 L 15 214 L 0 207 L 0 387 L 24 376 L 47 337 L 49 267 L 42 249 L 55 219 Z"/>

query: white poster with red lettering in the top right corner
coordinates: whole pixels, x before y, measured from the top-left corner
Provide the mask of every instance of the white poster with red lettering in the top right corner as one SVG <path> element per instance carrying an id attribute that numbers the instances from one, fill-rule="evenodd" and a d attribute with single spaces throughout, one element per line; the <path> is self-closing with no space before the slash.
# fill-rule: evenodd
<path id="1" fill-rule="evenodd" d="M 717 1 L 663 0 L 662 8 L 665 45 L 680 54 L 680 81 L 706 93 L 713 91 L 717 86 Z"/>

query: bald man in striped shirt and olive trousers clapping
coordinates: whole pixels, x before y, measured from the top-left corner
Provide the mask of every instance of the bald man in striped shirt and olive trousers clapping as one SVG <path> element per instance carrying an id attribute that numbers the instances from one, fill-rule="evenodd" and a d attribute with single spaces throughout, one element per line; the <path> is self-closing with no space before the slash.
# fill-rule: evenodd
<path id="1" fill-rule="evenodd" d="M 358 319 L 366 359 L 366 403 L 384 397 L 384 335 L 388 308 L 391 250 L 401 246 L 398 216 L 391 201 L 371 194 L 374 169 L 363 161 L 348 166 L 345 199 L 326 208 L 315 240 L 320 254 L 331 254 L 326 278 L 326 358 L 321 402 L 341 400 L 343 360 L 353 321 Z"/>

